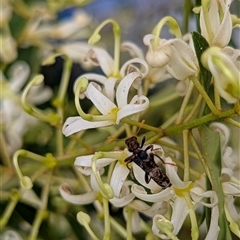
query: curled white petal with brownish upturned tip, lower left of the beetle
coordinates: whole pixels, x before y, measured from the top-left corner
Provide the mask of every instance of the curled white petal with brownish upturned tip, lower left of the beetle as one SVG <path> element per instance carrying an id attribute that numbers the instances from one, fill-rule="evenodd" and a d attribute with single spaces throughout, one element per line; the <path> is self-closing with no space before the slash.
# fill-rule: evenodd
<path id="1" fill-rule="evenodd" d="M 67 184 L 62 184 L 59 188 L 60 194 L 62 197 L 73 204 L 89 204 L 96 200 L 97 193 L 95 191 L 91 191 L 84 194 L 73 195 L 71 189 Z"/>

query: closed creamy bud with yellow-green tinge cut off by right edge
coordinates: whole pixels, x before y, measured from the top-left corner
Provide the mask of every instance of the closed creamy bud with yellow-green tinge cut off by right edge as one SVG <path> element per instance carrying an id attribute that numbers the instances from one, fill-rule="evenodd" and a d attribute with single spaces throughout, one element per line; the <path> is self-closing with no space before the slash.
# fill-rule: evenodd
<path id="1" fill-rule="evenodd" d="M 240 99 L 240 69 L 218 47 L 208 48 L 201 57 L 204 67 L 214 77 L 219 95 L 229 103 Z"/>

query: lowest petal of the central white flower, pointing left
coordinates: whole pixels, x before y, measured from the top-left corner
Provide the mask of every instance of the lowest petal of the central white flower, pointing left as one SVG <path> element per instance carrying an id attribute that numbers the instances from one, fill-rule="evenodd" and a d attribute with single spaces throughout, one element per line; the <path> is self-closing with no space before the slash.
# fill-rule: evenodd
<path id="1" fill-rule="evenodd" d="M 67 137 L 82 130 L 106 127 L 112 124 L 112 121 L 90 122 L 81 117 L 69 117 L 63 124 L 62 132 Z"/>

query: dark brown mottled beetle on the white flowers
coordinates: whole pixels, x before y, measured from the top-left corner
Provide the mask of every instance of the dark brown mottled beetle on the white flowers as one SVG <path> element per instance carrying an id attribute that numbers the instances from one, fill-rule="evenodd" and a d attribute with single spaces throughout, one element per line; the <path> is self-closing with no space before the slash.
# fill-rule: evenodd
<path id="1" fill-rule="evenodd" d="M 149 183 L 150 180 L 153 179 L 162 188 L 168 188 L 172 184 L 166 174 L 154 161 L 154 156 L 158 157 L 163 163 L 164 161 L 158 155 L 152 153 L 154 150 L 153 145 L 147 146 L 144 150 L 142 149 L 145 139 L 146 138 L 143 137 L 141 144 L 137 141 L 135 136 L 126 139 L 125 143 L 128 147 L 128 151 L 133 154 L 127 157 L 124 162 L 127 163 L 128 168 L 129 163 L 134 162 L 144 170 L 146 183 Z M 148 150 L 151 150 L 151 152 L 147 153 Z"/>

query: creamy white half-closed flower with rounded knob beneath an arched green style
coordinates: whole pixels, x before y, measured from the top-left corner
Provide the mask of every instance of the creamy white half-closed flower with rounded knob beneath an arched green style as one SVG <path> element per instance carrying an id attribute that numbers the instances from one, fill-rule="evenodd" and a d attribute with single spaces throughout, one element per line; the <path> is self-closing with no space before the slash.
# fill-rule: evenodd
<path id="1" fill-rule="evenodd" d="M 156 49 L 153 47 L 154 35 L 146 35 L 143 42 L 148 46 L 147 63 L 151 67 L 164 67 L 177 80 L 185 80 L 199 72 L 198 61 L 193 49 L 179 38 L 159 39 Z"/>

